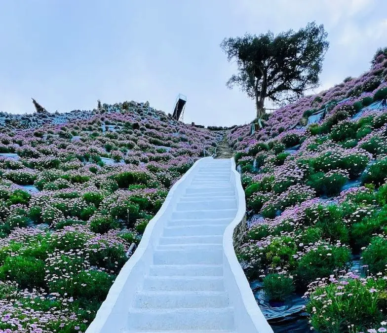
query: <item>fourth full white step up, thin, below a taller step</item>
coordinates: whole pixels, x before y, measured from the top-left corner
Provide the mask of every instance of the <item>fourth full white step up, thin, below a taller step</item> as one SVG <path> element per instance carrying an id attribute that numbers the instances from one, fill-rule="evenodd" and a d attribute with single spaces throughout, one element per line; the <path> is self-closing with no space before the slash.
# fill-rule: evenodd
<path id="1" fill-rule="evenodd" d="M 151 265 L 149 275 L 223 276 L 223 265 Z"/>

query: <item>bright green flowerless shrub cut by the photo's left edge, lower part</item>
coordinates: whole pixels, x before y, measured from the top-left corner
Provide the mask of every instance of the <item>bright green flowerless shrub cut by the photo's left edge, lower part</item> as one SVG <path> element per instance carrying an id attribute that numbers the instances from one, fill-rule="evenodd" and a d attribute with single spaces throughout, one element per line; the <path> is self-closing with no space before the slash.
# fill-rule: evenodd
<path id="1" fill-rule="evenodd" d="M 0 267 L 0 279 L 15 281 L 22 289 L 44 287 L 44 277 L 44 261 L 36 258 L 7 257 Z"/>

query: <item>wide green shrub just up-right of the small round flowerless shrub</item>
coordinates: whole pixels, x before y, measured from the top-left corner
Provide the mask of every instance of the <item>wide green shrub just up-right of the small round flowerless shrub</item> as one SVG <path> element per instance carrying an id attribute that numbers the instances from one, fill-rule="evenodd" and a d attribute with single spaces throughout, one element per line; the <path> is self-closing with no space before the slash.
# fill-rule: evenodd
<path id="1" fill-rule="evenodd" d="M 297 281 L 302 287 L 306 287 L 315 279 L 329 277 L 335 269 L 342 269 L 349 260 L 350 251 L 347 247 L 320 245 L 299 259 Z"/>

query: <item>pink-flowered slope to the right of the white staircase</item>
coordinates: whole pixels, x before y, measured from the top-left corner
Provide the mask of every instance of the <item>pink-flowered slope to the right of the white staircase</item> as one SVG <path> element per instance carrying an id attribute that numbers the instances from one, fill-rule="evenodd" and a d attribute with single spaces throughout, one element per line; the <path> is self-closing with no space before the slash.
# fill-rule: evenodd
<path id="1" fill-rule="evenodd" d="M 381 55 L 263 129 L 229 134 L 249 210 L 246 275 L 273 327 L 304 304 L 310 314 L 276 332 L 386 332 L 386 80 Z"/>

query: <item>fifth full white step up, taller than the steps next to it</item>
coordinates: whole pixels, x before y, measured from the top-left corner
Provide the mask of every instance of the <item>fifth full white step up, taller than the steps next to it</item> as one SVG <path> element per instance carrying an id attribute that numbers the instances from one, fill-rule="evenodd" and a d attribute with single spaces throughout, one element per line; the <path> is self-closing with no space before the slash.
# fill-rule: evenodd
<path id="1" fill-rule="evenodd" d="M 223 262 L 222 245 L 219 244 L 218 247 L 212 247 L 208 247 L 207 249 L 195 249 L 194 247 L 186 249 L 159 249 L 157 247 L 154 252 L 153 262 L 155 265 L 221 264 Z"/>

